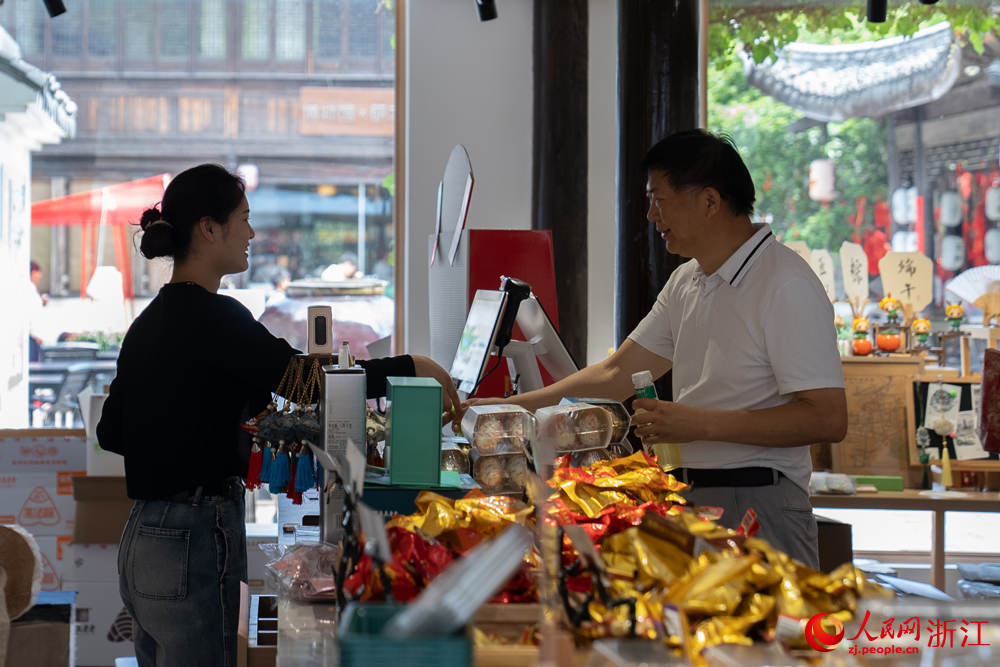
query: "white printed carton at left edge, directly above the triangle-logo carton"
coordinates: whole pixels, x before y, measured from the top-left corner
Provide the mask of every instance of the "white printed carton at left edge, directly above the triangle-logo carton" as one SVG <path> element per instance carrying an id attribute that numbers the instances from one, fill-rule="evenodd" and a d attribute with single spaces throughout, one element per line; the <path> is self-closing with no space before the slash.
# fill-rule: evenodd
<path id="1" fill-rule="evenodd" d="M 0 430 L 0 473 L 86 469 L 87 447 L 83 429 Z"/>

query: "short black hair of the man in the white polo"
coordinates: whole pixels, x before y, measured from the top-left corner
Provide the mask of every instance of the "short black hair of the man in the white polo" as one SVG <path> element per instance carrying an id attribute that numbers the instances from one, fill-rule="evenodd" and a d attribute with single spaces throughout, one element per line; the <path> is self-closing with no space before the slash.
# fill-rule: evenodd
<path id="1" fill-rule="evenodd" d="M 753 179 L 726 135 L 700 129 L 671 134 L 649 149 L 642 166 L 663 172 L 676 190 L 715 188 L 736 215 L 753 213 Z"/>

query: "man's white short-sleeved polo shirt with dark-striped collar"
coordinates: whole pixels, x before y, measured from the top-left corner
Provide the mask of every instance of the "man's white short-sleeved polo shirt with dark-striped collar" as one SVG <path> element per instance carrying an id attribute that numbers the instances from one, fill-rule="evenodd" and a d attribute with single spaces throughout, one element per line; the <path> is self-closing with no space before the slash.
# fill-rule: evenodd
<path id="1" fill-rule="evenodd" d="M 843 387 L 833 306 L 819 279 L 768 225 L 710 276 L 678 267 L 629 338 L 673 362 L 674 401 L 714 410 L 783 405 L 807 389 Z M 690 468 L 776 468 L 809 488 L 809 447 L 699 440 L 679 445 Z"/>

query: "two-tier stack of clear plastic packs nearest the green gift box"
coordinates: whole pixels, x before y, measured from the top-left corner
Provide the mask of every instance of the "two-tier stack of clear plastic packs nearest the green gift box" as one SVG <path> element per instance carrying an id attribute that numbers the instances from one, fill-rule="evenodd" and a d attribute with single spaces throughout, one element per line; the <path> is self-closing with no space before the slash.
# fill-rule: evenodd
<path id="1" fill-rule="evenodd" d="M 472 442 L 472 478 L 488 495 L 521 493 L 527 482 L 531 413 L 517 405 L 473 405 L 462 418 Z"/>

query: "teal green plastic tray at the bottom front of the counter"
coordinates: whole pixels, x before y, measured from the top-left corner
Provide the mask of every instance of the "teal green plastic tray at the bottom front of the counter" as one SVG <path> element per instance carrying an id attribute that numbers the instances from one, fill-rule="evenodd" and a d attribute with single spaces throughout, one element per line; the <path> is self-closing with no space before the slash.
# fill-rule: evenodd
<path id="1" fill-rule="evenodd" d="M 382 628 L 399 604 L 351 602 L 340 619 L 337 643 L 341 667 L 410 667 L 472 664 L 472 643 L 464 632 L 447 637 L 393 639 Z"/>

